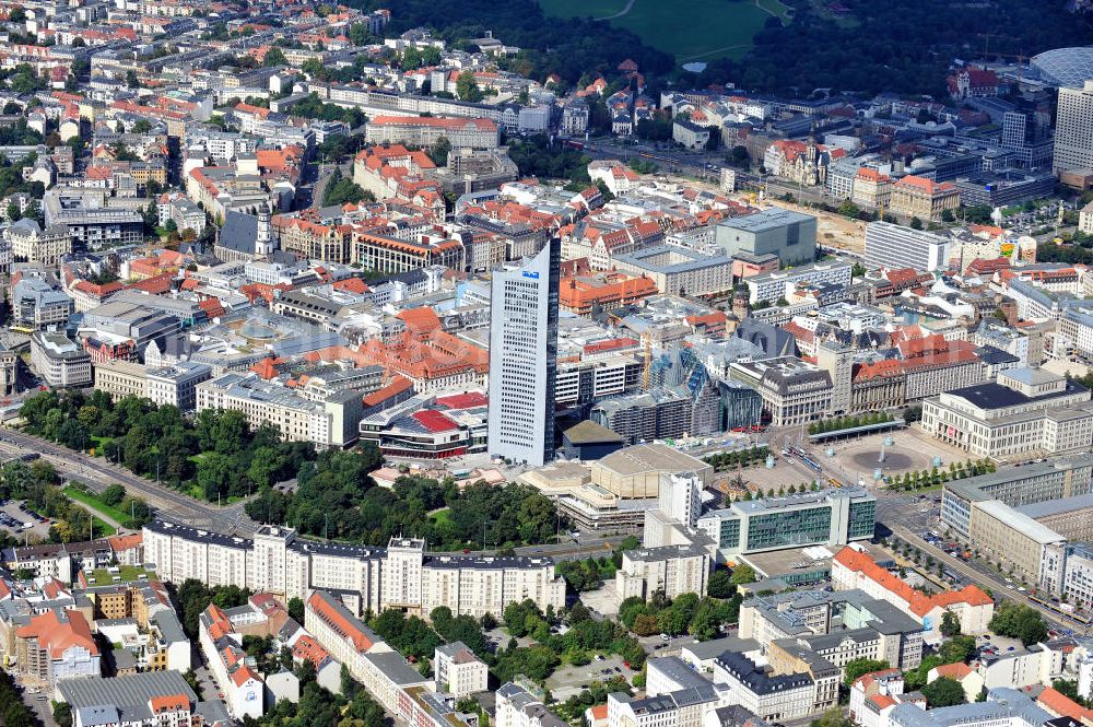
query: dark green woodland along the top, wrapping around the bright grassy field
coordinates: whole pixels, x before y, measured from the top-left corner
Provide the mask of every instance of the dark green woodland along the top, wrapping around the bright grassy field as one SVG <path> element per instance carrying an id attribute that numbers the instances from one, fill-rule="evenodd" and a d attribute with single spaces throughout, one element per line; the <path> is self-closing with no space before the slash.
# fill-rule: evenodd
<path id="1" fill-rule="evenodd" d="M 392 11 L 387 35 L 412 27 L 438 31 L 449 42 L 493 31 L 521 51 L 501 62 L 539 81 L 557 73 L 575 84 L 587 73 L 615 75 L 618 65 L 633 58 L 653 91 L 668 83 L 700 87 L 732 82 L 760 92 L 811 93 L 814 89 L 878 93 L 944 95 L 944 77 L 955 58 L 977 60 L 1008 54 L 1025 58 L 1050 48 L 1086 45 L 1090 24 L 1070 13 L 1067 0 L 997 0 L 980 3 L 948 0 L 842 0 L 835 12 L 815 0 L 787 0 L 794 20 L 783 26 L 772 17 L 755 36 L 755 46 L 739 60 L 710 63 L 701 75 L 675 68 L 669 54 L 646 46 L 633 33 L 590 19 L 544 17 L 536 0 L 494 3 L 489 0 L 353 0 L 351 5 Z M 985 28 L 984 13 L 990 16 Z M 989 36 L 988 36 L 989 34 Z"/>

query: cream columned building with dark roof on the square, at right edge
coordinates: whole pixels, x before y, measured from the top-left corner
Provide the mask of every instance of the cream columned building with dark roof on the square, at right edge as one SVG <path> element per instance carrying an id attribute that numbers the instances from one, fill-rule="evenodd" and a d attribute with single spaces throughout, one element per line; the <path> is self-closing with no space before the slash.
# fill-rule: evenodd
<path id="1" fill-rule="evenodd" d="M 976 457 L 1082 452 L 1093 442 L 1090 391 L 1043 368 L 1010 368 L 922 403 L 922 431 Z"/>

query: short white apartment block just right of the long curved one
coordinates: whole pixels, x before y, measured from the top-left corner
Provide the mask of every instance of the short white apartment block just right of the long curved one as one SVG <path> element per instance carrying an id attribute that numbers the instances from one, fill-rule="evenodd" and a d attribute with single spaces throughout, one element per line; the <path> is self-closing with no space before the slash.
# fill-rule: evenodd
<path id="1" fill-rule="evenodd" d="M 662 590 L 668 598 L 681 594 L 706 594 L 712 559 L 700 546 L 661 546 L 627 550 L 615 573 L 619 600 L 631 596 L 649 598 Z"/>

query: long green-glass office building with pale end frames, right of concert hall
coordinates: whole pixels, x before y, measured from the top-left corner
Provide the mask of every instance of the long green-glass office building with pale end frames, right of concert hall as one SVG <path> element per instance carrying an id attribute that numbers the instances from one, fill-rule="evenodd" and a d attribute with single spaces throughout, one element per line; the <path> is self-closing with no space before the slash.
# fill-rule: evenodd
<path id="1" fill-rule="evenodd" d="M 875 523 L 877 499 L 865 489 L 849 488 L 737 501 L 706 513 L 696 527 L 732 560 L 743 553 L 869 540 Z"/>

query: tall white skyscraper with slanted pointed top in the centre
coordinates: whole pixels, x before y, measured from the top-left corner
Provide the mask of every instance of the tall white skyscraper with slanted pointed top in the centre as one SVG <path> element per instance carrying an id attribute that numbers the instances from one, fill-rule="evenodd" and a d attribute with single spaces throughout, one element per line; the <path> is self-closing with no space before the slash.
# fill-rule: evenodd
<path id="1" fill-rule="evenodd" d="M 554 458 L 561 246 L 495 270 L 491 285 L 489 453 L 537 467 Z"/>

